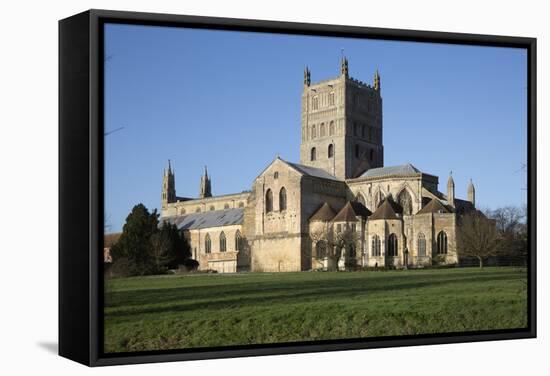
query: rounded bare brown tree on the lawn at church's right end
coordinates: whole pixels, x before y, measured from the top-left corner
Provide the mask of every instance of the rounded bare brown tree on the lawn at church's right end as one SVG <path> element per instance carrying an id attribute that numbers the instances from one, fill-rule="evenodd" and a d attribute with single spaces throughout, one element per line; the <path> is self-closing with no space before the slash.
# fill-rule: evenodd
<path id="1" fill-rule="evenodd" d="M 500 236 L 495 221 L 481 212 L 474 211 L 461 218 L 457 238 L 461 255 L 477 258 L 480 268 L 487 257 L 498 254 Z"/>

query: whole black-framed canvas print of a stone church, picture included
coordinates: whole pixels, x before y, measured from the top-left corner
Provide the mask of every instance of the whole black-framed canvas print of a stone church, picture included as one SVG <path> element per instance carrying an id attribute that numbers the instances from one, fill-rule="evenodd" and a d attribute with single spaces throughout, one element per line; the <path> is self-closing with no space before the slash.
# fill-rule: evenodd
<path id="1" fill-rule="evenodd" d="M 535 125 L 532 38 L 61 20 L 59 354 L 535 337 Z"/>

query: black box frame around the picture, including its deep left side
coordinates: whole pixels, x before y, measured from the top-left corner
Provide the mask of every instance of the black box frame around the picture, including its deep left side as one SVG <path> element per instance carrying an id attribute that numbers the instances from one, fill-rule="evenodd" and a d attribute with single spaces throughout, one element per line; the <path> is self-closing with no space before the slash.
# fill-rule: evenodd
<path id="1" fill-rule="evenodd" d="M 475 333 L 105 354 L 103 309 L 103 25 L 193 27 L 519 47 L 528 58 L 528 327 Z M 83 197 L 89 205 L 83 206 Z M 295 22 L 89 10 L 59 21 L 59 354 L 88 366 L 536 337 L 536 39 Z"/>

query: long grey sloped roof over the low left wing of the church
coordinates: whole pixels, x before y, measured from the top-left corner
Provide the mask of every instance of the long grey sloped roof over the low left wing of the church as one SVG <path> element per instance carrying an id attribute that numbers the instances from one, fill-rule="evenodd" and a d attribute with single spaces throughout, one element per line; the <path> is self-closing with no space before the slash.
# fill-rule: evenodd
<path id="1" fill-rule="evenodd" d="M 180 230 L 195 230 L 209 227 L 240 225 L 243 223 L 244 208 L 212 210 L 204 213 L 193 213 L 181 217 L 167 218 Z"/>

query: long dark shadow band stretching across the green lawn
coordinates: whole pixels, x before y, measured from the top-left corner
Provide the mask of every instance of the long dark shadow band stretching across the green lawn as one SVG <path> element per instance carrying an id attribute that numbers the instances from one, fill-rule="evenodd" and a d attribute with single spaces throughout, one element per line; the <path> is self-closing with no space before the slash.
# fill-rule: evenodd
<path id="1" fill-rule="evenodd" d="M 510 280 L 517 273 L 489 272 L 483 274 L 454 273 L 452 275 L 402 275 L 391 278 L 322 279 L 238 283 L 231 285 L 172 287 L 131 290 L 106 294 L 106 317 L 124 317 L 162 312 L 219 310 L 245 306 L 269 306 L 273 303 L 292 304 L 326 297 L 358 298 L 376 293 L 446 288 L 452 284 L 488 283 Z M 450 278 L 452 276 L 452 278 Z M 120 307 L 120 308 L 116 308 Z M 113 309 L 110 309 L 113 308 Z"/>

